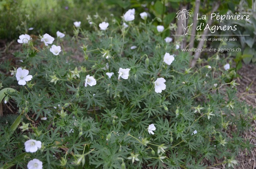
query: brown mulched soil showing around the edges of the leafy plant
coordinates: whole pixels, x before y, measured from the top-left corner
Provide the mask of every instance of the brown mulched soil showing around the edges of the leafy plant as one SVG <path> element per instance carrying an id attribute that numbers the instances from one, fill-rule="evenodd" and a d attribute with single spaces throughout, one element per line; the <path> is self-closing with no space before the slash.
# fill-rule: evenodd
<path id="1" fill-rule="evenodd" d="M 15 58 L 13 53 L 19 51 L 21 49 L 22 44 L 16 42 L 16 40 L 12 40 L 11 42 L 6 42 L 0 39 L 0 64 L 10 63 L 9 68 L 16 67 L 17 62 L 19 62 L 18 58 Z M 77 51 L 76 51 L 77 52 Z M 83 56 L 78 56 L 77 60 L 83 60 Z M 0 70 L 2 71 L 2 70 Z M 237 86 L 237 97 L 241 101 L 246 101 L 248 105 L 256 107 L 256 65 L 247 64 L 243 65 L 240 70 L 238 70 L 238 74 L 240 77 L 236 78 Z M 11 76 L 10 72 L 2 72 L 6 76 Z M 246 87 L 250 86 L 250 90 L 248 93 L 245 93 Z M 7 114 L 15 114 L 17 109 L 15 108 L 15 103 L 11 100 L 7 104 L 0 105 L 0 115 Z M 235 126 L 230 130 L 236 130 Z M 246 131 L 243 135 L 244 139 L 248 139 L 250 144 L 256 146 L 256 121 L 254 120 L 251 124 L 251 129 Z M 229 136 L 231 137 L 231 135 Z M 244 150 L 239 153 L 239 156 L 236 157 L 236 160 L 239 163 L 239 166 L 235 167 L 236 169 L 256 169 L 256 150 L 252 149 L 250 151 Z M 218 160 L 216 159 L 216 162 Z M 219 162 L 220 163 L 220 162 Z M 215 166 L 215 168 L 210 169 L 224 169 L 223 166 Z"/>

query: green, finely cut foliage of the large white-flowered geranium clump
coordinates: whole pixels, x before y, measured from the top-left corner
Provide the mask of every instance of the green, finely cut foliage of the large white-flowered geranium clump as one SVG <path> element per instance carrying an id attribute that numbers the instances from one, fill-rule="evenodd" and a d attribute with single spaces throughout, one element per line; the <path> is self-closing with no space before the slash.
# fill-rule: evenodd
<path id="1" fill-rule="evenodd" d="M 16 53 L 33 77 L 24 86 L 15 76 L 1 77 L 16 89 L 6 95 L 19 118 L 0 124 L 0 167 L 25 168 L 32 159 L 47 169 L 204 169 L 216 159 L 236 165 L 238 152 L 252 147 L 242 134 L 255 110 L 238 101 L 235 81 L 224 81 L 219 56 L 191 69 L 191 56 L 166 43 L 152 22 L 129 21 L 125 28 L 105 20 L 109 26 L 99 30 L 100 19 L 90 20 L 95 31 L 74 27 L 73 37 L 55 38 L 58 55 L 52 44 L 37 47 L 40 40 Z M 170 65 L 165 53 L 174 56 Z M 127 79 L 120 68 L 129 69 Z M 157 78 L 166 80 L 160 93 Z M 35 153 L 25 152 L 30 139 L 41 142 Z"/>

